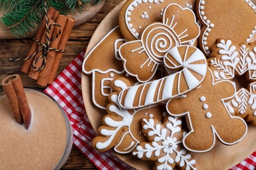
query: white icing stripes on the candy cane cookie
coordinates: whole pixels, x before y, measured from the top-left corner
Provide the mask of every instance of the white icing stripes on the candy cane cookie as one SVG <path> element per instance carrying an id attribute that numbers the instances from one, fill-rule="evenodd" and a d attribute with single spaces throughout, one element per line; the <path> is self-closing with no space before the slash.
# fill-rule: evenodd
<path id="1" fill-rule="evenodd" d="M 184 54 L 184 56 L 181 57 L 181 54 L 179 53 L 179 48 L 182 48 L 183 46 L 186 47 L 186 53 Z M 194 53 L 190 56 L 186 56 L 189 48 L 193 48 Z M 189 92 L 190 90 L 198 87 L 202 83 L 202 80 L 207 73 L 207 60 L 198 48 L 187 45 L 175 46 L 171 48 L 171 50 L 169 50 L 169 54 L 171 54 L 169 56 L 172 56 L 176 61 L 179 62 L 179 65 L 173 64 L 174 67 L 170 68 L 177 69 L 179 67 L 183 67 L 183 69 L 177 73 L 174 73 L 173 75 L 165 76 L 164 78 L 154 80 L 152 82 L 146 82 L 144 84 L 131 86 L 126 90 L 122 90 L 119 93 L 119 103 L 124 103 L 123 105 L 121 105 L 121 107 L 125 109 L 135 109 L 139 107 L 144 107 L 146 105 L 152 105 L 154 103 L 166 101 L 167 99 L 171 99 L 177 95 L 181 95 L 182 93 Z M 203 61 L 203 63 L 195 64 L 196 61 Z M 171 60 L 169 60 L 169 62 L 172 63 Z M 202 78 L 198 80 L 196 76 L 194 76 L 193 73 L 190 71 L 202 75 Z M 181 74 L 184 75 L 185 82 L 181 82 Z M 178 78 L 178 84 L 174 84 L 175 78 Z M 177 86 L 177 88 L 179 89 L 182 83 L 186 83 L 188 85 L 188 89 L 184 91 L 178 90 L 178 93 L 173 93 L 173 88 L 176 88 L 175 86 Z M 161 86 L 158 86 L 158 84 L 161 84 Z M 149 86 L 148 90 L 144 89 L 145 86 Z M 161 88 L 163 88 L 162 92 Z M 144 90 L 146 90 L 146 92 L 144 92 Z M 125 97 L 123 97 L 123 93 L 125 91 L 127 92 L 127 94 L 125 95 Z M 139 93 L 140 96 L 139 104 L 133 105 L 133 101 L 135 100 L 135 96 L 137 93 Z M 144 95 L 145 103 L 140 103 L 143 97 L 142 93 L 146 93 L 146 95 Z M 154 99 L 155 95 L 157 95 L 156 99 Z"/>

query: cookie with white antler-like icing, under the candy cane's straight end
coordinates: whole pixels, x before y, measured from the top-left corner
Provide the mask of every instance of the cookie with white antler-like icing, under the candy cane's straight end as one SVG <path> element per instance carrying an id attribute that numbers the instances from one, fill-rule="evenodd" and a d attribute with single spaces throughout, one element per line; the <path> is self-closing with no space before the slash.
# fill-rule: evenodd
<path id="1" fill-rule="evenodd" d="M 129 83 L 127 84 L 124 78 L 116 78 L 111 86 L 122 89 L 129 86 Z M 117 94 L 118 92 L 113 92 L 109 96 L 108 114 L 102 118 L 103 126 L 98 128 L 99 136 L 93 139 L 92 145 L 100 151 L 114 148 L 116 152 L 125 154 L 131 152 L 140 142 L 146 141 L 141 133 L 140 120 L 142 118 L 163 120 L 167 112 L 161 105 L 139 110 L 123 109 L 117 102 Z"/>

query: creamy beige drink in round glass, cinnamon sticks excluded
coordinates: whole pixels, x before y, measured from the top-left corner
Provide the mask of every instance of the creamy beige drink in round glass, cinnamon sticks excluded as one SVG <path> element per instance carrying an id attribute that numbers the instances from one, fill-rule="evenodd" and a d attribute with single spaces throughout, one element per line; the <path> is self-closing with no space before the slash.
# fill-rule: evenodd
<path id="1" fill-rule="evenodd" d="M 72 148 L 68 117 L 48 95 L 25 89 L 32 111 L 28 130 L 0 93 L 0 169 L 60 169 Z"/>

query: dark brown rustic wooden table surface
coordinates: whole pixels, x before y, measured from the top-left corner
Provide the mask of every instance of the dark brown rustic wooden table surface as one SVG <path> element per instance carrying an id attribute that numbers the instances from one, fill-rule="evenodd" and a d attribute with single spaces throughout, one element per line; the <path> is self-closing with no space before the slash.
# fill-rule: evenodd
<path id="1" fill-rule="evenodd" d="M 57 74 L 61 73 L 66 66 L 71 63 L 73 59 L 87 46 L 87 44 L 89 44 L 91 36 L 98 24 L 100 24 L 108 12 L 114 9 L 114 7 L 116 7 L 116 5 L 122 0 L 105 1 L 106 5 L 93 19 L 73 29 Z M 0 80 L 3 80 L 3 78 L 8 75 L 18 73 L 22 76 L 24 86 L 40 88 L 43 90 L 45 87 L 39 86 L 36 84 L 35 80 L 20 71 L 23 64 L 22 61 L 13 62 L 8 60 L 10 57 L 24 58 L 24 56 L 28 54 L 31 44 L 32 39 L 0 40 Z M 0 91 L 2 91 L 1 84 Z M 93 163 L 87 160 L 87 158 L 75 146 L 73 146 L 70 157 L 62 169 L 96 169 L 96 167 Z"/>

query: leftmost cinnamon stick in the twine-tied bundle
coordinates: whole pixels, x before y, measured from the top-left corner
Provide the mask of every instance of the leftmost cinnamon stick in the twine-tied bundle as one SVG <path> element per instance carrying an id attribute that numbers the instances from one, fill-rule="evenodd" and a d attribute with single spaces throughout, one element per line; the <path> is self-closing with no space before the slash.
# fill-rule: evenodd
<path id="1" fill-rule="evenodd" d="M 53 19 L 55 13 L 58 14 L 58 10 L 55 10 L 53 7 L 50 7 L 48 12 L 47 12 L 49 19 Z M 43 36 L 44 31 L 45 31 L 45 17 L 43 18 L 43 21 L 42 21 L 41 25 L 39 26 L 39 29 L 37 31 L 37 35 L 35 35 L 35 39 L 41 40 L 41 37 Z M 28 52 L 27 57 L 34 54 L 35 51 L 37 50 L 37 48 L 38 48 L 37 42 L 33 41 L 32 46 L 30 48 L 30 51 Z M 33 62 L 33 58 L 25 60 L 24 63 L 23 63 L 21 71 L 24 72 L 24 73 L 28 73 L 28 71 L 30 71 L 30 67 L 32 65 L 32 62 Z"/>

